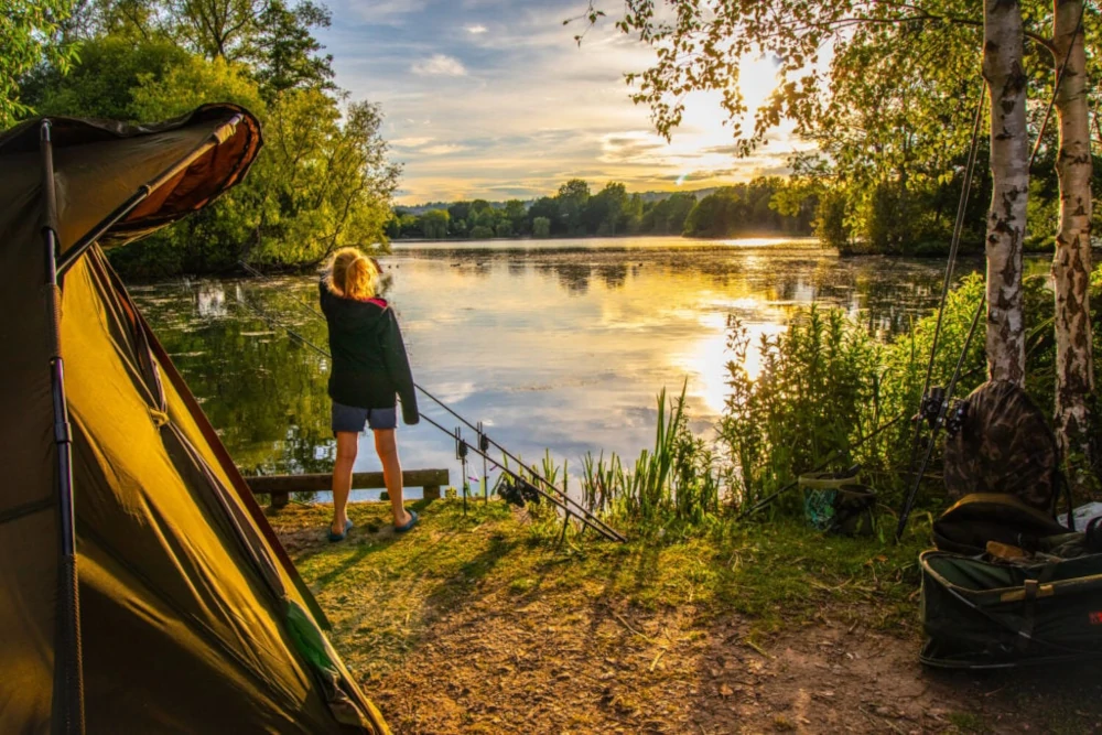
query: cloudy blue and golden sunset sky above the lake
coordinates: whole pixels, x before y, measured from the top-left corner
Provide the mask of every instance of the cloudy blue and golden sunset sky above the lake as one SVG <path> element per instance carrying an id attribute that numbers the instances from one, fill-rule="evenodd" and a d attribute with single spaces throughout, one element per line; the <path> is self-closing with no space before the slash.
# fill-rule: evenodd
<path id="1" fill-rule="evenodd" d="M 784 130 L 753 158 L 734 158 L 715 97 L 690 100 L 671 143 L 655 134 L 623 78 L 653 52 L 609 20 L 579 47 L 584 21 L 563 21 L 584 0 L 327 4 L 333 26 L 320 40 L 337 84 L 382 104 L 383 134 L 404 164 L 399 203 L 532 198 L 571 177 L 595 188 L 695 190 L 786 170 L 793 141 Z M 743 80 L 753 107 L 774 86 L 773 62 L 749 60 Z"/>

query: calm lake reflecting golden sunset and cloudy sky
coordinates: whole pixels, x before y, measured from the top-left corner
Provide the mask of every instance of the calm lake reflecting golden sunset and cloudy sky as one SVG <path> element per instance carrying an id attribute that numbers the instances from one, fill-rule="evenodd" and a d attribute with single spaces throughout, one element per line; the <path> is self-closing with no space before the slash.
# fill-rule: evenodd
<path id="1" fill-rule="evenodd" d="M 728 317 L 775 334 L 819 303 L 887 338 L 936 305 L 944 269 L 840 259 L 810 240 L 679 237 L 398 244 L 381 262 L 414 379 L 527 462 L 550 448 L 575 476 L 586 452 L 634 461 L 652 445 L 662 387 L 684 382 L 692 425 L 710 431 L 724 403 Z M 283 328 L 326 346 L 306 307 L 316 309 L 316 277 L 131 293 L 245 472 L 331 469 L 327 360 Z M 457 425 L 426 400 L 421 409 Z M 402 426 L 399 446 L 406 468 L 447 467 L 462 484 L 454 441 L 426 422 Z M 356 469 L 378 468 L 365 436 Z M 468 476 L 480 472 L 479 461 Z"/>

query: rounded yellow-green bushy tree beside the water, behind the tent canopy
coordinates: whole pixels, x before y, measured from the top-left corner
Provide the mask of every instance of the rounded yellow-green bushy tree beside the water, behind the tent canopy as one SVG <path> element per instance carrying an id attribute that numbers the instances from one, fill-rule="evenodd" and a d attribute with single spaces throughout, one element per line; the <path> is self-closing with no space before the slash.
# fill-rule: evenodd
<path id="1" fill-rule="evenodd" d="M 120 252 L 125 267 L 145 275 L 156 274 L 149 268 L 222 270 L 242 259 L 309 267 L 346 245 L 386 241 L 399 169 L 387 159 L 375 105 L 342 107 L 316 88 L 284 91 L 268 105 L 248 67 L 199 56 L 160 79 L 143 78 L 133 99 L 133 117 L 143 120 L 212 99 L 238 102 L 261 117 L 268 144 L 240 186 L 139 251 Z"/>

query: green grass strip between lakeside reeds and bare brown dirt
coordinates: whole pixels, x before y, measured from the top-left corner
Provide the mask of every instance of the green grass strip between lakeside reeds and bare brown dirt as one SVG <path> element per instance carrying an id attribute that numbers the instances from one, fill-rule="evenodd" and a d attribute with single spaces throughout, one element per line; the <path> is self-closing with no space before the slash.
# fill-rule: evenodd
<path id="1" fill-rule="evenodd" d="M 466 516 L 461 501 L 431 505 L 407 536 L 389 530 L 381 504 L 353 505 L 356 528 L 341 544 L 322 540 L 326 507 L 271 517 L 359 671 L 385 673 L 441 615 L 463 615 L 473 598 L 498 592 L 518 607 L 573 595 L 639 610 L 691 606 L 704 617 L 734 610 L 750 618 L 752 637 L 825 619 L 916 629 L 921 531 L 895 545 L 778 520 L 670 543 L 591 538 L 559 549 L 504 502 L 472 501 Z"/>

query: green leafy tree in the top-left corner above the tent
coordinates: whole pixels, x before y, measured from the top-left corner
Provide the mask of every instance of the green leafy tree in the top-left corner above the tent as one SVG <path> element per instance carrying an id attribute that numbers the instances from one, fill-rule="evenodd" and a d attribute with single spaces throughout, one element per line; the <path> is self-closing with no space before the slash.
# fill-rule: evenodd
<path id="1" fill-rule="evenodd" d="M 20 101 L 23 78 L 43 63 L 65 74 L 76 46 L 60 37 L 72 0 L 9 0 L 0 12 L 0 129 L 31 112 Z"/>

